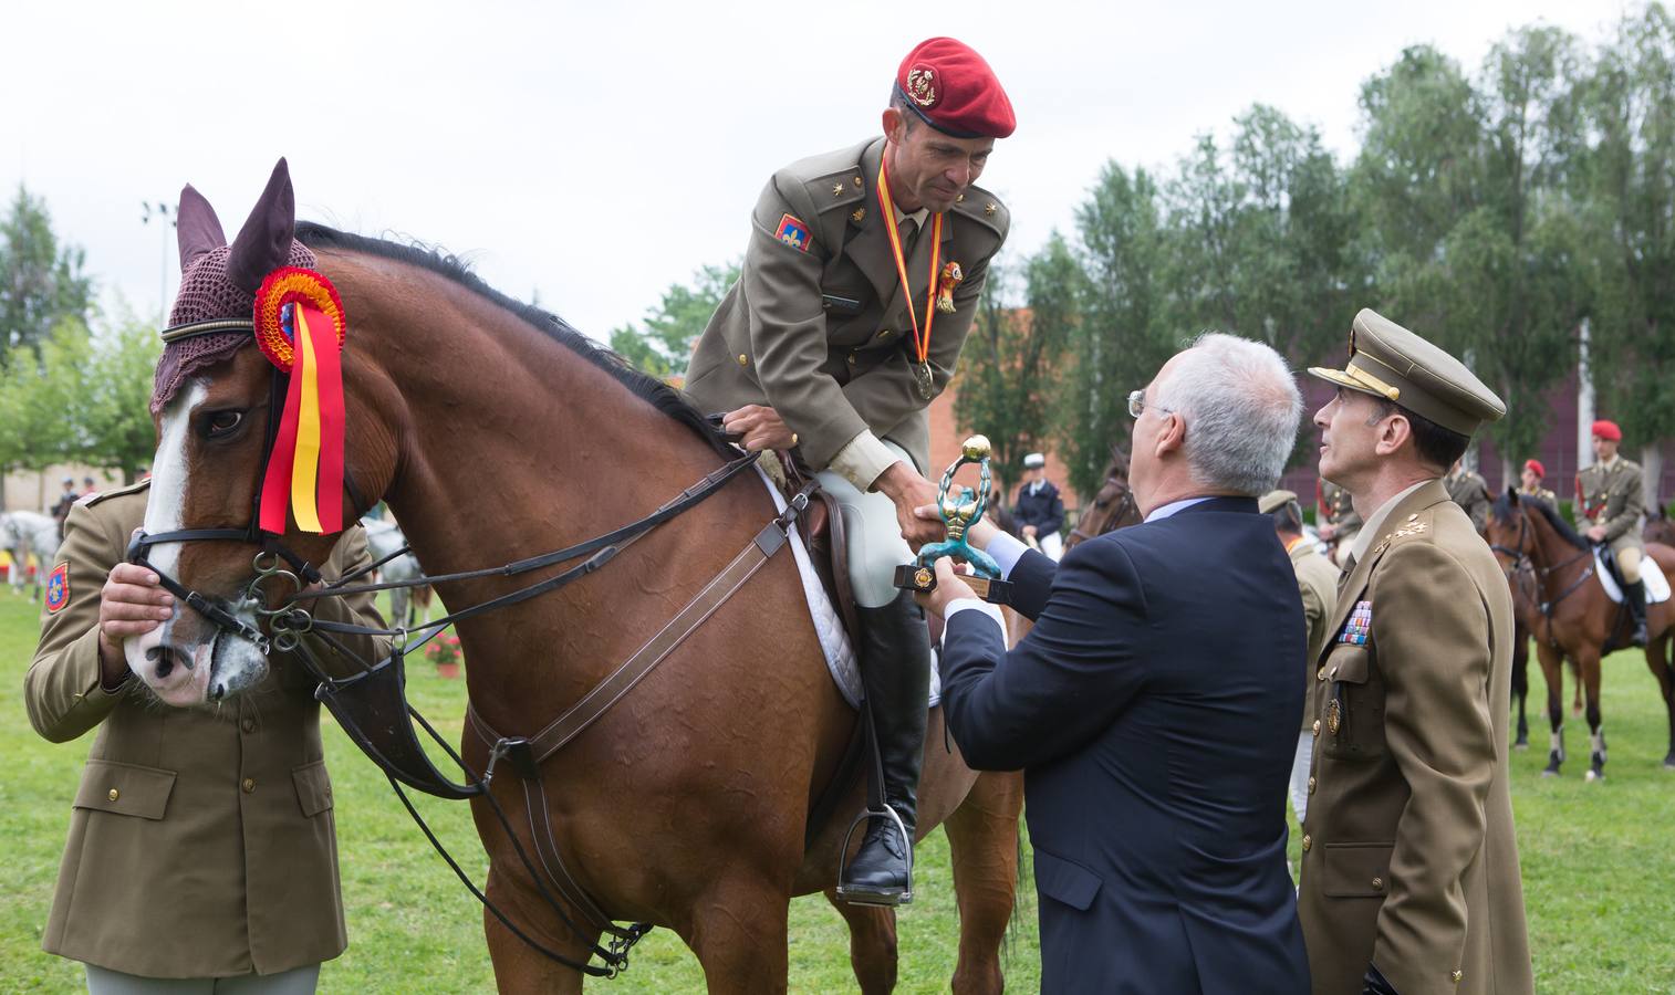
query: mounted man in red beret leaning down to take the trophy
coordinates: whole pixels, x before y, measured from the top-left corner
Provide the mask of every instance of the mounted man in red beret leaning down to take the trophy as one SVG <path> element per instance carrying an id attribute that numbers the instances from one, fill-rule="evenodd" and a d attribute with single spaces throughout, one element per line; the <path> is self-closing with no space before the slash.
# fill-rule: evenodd
<path id="1" fill-rule="evenodd" d="M 1013 126 L 982 55 L 953 39 L 916 45 L 896 70 L 883 137 L 769 179 L 739 281 L 687 370 L 687 392 L 725 412 L 744 446 L 794 447 L 843 506 L 884 796 L 910 834 L 869 826 L 838 889 L 853 901 L 911 898 L 930 640 L 893 578 L 910 541 L 943 538 L 913 514 L 936 501 L 925 409 L 953 375 L 1007 238 L 1005 206 L 973 184 Z"/>

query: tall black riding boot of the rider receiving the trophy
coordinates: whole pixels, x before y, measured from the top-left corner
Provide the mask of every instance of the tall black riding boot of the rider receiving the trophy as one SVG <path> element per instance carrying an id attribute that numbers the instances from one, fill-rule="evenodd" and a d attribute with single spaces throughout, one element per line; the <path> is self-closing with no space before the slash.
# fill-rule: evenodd
<path id="1" fill-rule="evenodd" d="M 925 611 L 903 591 L 883 608 L 859 608 L 861 685 L 878 730 L 878 760 L 884 771 L 884 801 L 901 816 L 874 817 L 861 853 L 844 868 L 838 898 L 864 905 L 913 901 L 908 849 L 918 814 L 920 766 L 925 760 L 925 702 L 930 695 L 931 643 Z"/>

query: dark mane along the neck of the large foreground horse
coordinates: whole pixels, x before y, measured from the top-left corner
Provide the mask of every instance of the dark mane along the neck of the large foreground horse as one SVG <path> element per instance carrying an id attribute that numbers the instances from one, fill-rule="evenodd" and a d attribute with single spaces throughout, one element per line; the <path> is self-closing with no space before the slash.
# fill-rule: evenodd
<path id="1" fill-rule="evenodd" d="M 466 290 L 471 290 L 477 296 L 486 298 L 489 303 L 494 303 L 523 318 L 526 323 L 546 333 L 564 348 L 605 370 L 635 397 L 692 429 L 719 454 L 725 457 L 739 456 L 739 451 L 722 437 L 720 430 L 717 430 L 709 419 L 698 409 L 692 407 L 692 404 L 673 387 L 663 384 L 657 377 L 636 370 L 633 363 L 625 360 L 621 355 L 605 345 L 600 345 L 593 338 L 588 338 L 581 332 L 576 332 L 558 315 L 494 290 L 484 283 L 481 276 L 472 273 L 471 266 L 467 266 L 459 256 L 447 255 L 424 245 L 402 245 L 382 238 L 368 238 L 365 235 L 350 235 L 348 231 L 338 231 L 313 221 L 298 221 L 296 238 L 308 248 L 343 250 L 350 253 L 382 256 L 385 260 L 410 263 L 439 276 L 446 276 Z"/>

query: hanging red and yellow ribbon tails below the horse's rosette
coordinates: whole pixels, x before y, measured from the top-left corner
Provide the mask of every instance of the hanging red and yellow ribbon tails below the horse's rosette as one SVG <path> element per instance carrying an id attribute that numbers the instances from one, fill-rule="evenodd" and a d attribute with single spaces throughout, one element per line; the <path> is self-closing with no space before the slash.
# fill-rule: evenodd
<path id="1" fill-rule="evenodd" d="M 343 528 L 343 372 L 332 318 L 291 305 L 295 365 L 261 486 L 261 529 L 285 533 L 286 499 L 305 533 Z"/>

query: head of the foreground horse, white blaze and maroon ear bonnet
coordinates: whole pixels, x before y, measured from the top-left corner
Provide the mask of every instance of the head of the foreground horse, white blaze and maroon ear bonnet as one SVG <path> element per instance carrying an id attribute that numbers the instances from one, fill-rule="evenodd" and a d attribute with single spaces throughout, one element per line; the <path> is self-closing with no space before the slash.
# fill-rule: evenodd
<path id="1" fill-rule="evenodd" d="M 275 397 L 283 400 L 276 389 L 285 382 L 260 350 L 246 348 L 255 342 L 255 291 L 278 266 L 315 268 L 313 253 L 295 240 L 285 161 L 231 246 L 191 186 L 181 193 L 178 218 L 181 290 L 169 327 L 186 337 L 173 338 L 157 362 L 151 404 L 157 454 L 146 539 L 136 548 L 178 585 L 176 606 L 173 618 L 127 640 L 124 650 L 157 697 L 193 705 L 226 699 L 266 675 L 260 610 L 295 588 L 285 576 L 255 585 L 258 554 L 263 566 L 295 573 L 303 563 L 323 563 L 338 533 L 307 534 L 288 521 L 283 536 L 261 538 L 255 526 L 270 422 L 278 417 Z"/>

